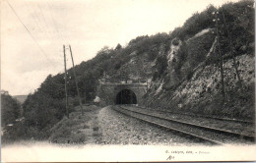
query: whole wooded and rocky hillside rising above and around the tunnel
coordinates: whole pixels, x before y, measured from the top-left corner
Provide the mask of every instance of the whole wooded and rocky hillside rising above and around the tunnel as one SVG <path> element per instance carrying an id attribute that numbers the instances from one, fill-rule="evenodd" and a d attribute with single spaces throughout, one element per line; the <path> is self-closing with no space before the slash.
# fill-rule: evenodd
<path id="1" fill-rule="evenodd" d="M 252 119 L 253 4 L 253 1 L 225 4 L 218 9 L 218 27 L 213 21 L 217 9 L 209 6 L 169 33 L 138 36 L 124 47 L 120 44 L 115 48 L 103 47 L 94 59 L 75 67 L 83 103 L 92 102 L 98 95 L 99 80 L 144 79 L 150 82 L 143 99 L 145 106 Z M 68 70 L 71 112 L 78 105 L 72 71 Z M 49 75 L 28 96 L 23 104 L 24 126 L 30 131 L 27 137 L 50 136 L 50 129 L 65 115 L 64 97 L 63 74 Z"/>

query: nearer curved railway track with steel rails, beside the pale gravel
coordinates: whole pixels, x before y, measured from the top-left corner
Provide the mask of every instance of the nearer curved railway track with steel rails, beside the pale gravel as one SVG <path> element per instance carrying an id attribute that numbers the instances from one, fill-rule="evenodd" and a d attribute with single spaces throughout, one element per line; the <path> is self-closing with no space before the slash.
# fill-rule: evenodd
<path id="1" fill-rule="evenodd" d="M 224 145 L 228 143 L 253 143 L 254 136 L 234 133 L 222 129 L 201 126 L 180 120 L 166 118 L 154 113 L 144 113 L 142 110 L 132 110 L 125 106 L 113 106 L 117 112 L 150 123 L 160 128 L 178 132 L 184 136 L 190 136 L 213 144 Z"/>

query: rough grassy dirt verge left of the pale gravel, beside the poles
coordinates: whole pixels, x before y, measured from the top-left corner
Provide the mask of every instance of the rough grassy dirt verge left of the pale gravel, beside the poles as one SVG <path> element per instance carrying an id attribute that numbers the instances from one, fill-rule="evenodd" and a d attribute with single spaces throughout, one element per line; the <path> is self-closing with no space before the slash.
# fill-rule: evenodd
<path id="1" fill-rule="evenodd" d="M 101 142 L 102 134 L 98 126 L 98 112 L 100 107 L 95 105 L 83 106 L 84 115 L 80 108 L 70 114 L 70 118 L 63 118 L 52 129 L 50 142 L 54 143 L 84 143 L 98 144 Z"/>

